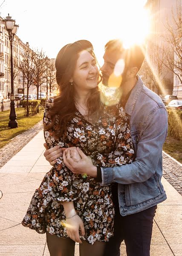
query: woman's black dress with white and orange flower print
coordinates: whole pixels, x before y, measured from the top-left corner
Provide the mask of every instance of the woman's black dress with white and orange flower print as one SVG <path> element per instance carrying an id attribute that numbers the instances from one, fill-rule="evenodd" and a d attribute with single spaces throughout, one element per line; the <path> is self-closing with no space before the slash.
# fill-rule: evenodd
<path id="1" fill-rule="evenodd" d="M 51 122 L 48 114 L 53 99 L 49 99 L 43 117 L 44 125 Z M 66 135 L 56 138 L 57 121 L 52 129 L 44 131 L 49 148 L 79 146 L 90 155 L 96 166 L 117 166 L 133 160 L 133 145 L 129 122 L 120 105 L 105 109 L 95 124 L 79 112 L 67 125 Z M 83 175 L 84 176 L 84 175 Z M 111 187 L 101 186 L 95 178 L 74 175 L 58 158 L 54 167 L 44 176 L 36 189 L 22 221 L 23 226 L 38 233 L 49 233 L 66 238 L 63 201 L 73 201 L 75 210 L 84 222 L 86 235 L 82 239 L 93 244 L 108 241 L 113 236 L 114 206 Z"/>

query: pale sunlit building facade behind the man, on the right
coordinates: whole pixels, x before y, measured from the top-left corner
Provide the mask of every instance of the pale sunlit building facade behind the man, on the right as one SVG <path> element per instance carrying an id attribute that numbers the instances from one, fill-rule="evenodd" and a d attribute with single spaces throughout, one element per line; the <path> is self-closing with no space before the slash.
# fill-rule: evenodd
<path id="1" fill-rule="evenodd" d="M 179 0 L 182 4 L 182 0 Z M 165 37 L 165 26 L 172 23 L 172 9 L 176 8 L 176 0 L 147 0 L 147 9 L 151 15 L 151 34 L 147 41 L 147 56 L 150 58 L 150 66 L 152 66 L 153 76 L 146 71 L 146 67 L 142 70 L 144 83 L 151 90 L 158 94 L 173 94 L 174 74 L 165 65 L 165 51 L 168 44 Z M 174 12 L 175 14 L 175 12 Z"/>

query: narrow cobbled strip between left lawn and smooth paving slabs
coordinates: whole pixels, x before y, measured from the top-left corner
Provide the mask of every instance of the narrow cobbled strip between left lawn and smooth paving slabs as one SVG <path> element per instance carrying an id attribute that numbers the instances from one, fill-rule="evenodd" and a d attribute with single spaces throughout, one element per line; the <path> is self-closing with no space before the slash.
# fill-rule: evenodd
<path id="1" fill-rule="evenodd" d="M 14 137 L 7 145 L 0 148 L 0 167 L 5 165 L 17 152 L 19 152 L 30 140 L 43 128 L 42 120 L 29 130 Z"/>

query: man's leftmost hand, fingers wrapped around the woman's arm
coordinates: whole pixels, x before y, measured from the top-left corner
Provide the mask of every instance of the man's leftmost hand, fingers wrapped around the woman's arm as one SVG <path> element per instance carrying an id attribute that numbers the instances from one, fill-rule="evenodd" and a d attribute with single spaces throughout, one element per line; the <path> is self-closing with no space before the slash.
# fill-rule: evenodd
<path id="1" fill-rule="evenodd" d="M 47 148 L 47 144 L 43 144 L 46 148 L 46 151 L 44 152 L 44 157 L 46 157 L 46 160 L 53 166 L 57 162 L 57 158 L 61 157 L 63 155 L 63 151 L 65 148 L 60 148 L 59 146 L 55 146 L 53 148 Z"/>

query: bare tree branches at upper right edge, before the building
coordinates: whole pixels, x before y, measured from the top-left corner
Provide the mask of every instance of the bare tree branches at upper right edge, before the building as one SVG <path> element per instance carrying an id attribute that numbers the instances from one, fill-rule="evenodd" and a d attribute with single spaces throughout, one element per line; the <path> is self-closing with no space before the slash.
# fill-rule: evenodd
<path id="1" fill-rule="evenodd" d="M 178 76 L 182 83 L 182 6 L 176 1 L 176 10 L 171 9 L 172 22 L 166 20 L 166 33 L 163 36 L 168 47 L 166 52 L 166 67 Z"/>

